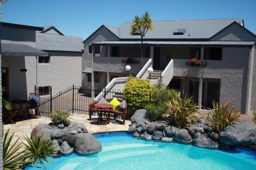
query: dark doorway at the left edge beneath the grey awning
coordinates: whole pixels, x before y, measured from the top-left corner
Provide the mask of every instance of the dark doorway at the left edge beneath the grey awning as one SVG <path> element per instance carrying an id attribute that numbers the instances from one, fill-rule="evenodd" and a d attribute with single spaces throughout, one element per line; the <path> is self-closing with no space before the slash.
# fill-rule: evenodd
<path id="1" fill-rule="evenodd" d="M 9 69 L 8 67 L 2 67 L 2 90 L 3 98 L 9 101 Z"/>

